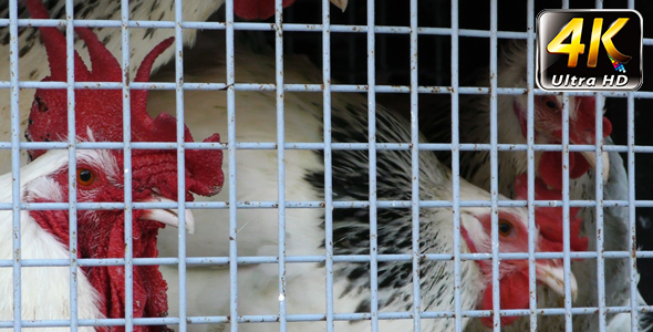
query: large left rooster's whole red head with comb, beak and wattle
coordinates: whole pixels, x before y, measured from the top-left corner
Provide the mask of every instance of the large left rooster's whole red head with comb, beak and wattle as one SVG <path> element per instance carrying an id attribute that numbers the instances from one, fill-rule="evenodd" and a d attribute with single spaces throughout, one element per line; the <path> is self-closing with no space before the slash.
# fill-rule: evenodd
<path id="1" fill-rule="evenodd" d="M 28 10 L 35 19 L 48 19 L 45 7 L 40 0 L 28 0 Z M 51 75 L 43 81 L 66 81 L 65 38 L 55 28 L 39 28 L 48 51 Z M 77 82 L 121 82 L 122 70 L 116 59 L 86 28 L 76 28 L 76 33 L 89 49 L 92 70 L 89 70 L 75 52 L 74 71 Z M 172 39 L 159 43 L 145 58 L 136 74 L 136 82 L 147 82 L 153 62 L 173 43 Z M 176 142 L 176 120 L 167 114 L 152 118 L 146 112 L 147 91 L 131 94 L 132 142 Z M 75 131 L 79 141 L 123 141 L 123 94 L 120 90 L 76 90 Z M 65 141 L 68 136 L 68 100 L 65 90 L 37 90 L 25 136 L 30 141 Z M 185 142 L 193 142 L 185 127 Z M 219 142 L 214 134 L 204 142 Z M 30 152 L 34 159 L 44 151 Z M 124 201 L 123 151 L 102 151 L 79 155 L 94 157 L 77 160 L 79 201 Z M 186 151 L 185 183 L 186 200 L 193 200 L 195 193 L 213 196 L 219 193 L 224 174 L 220 151 Z M 173 201 L 177 198 L 177 152 L 133 151 L 132 196 L 134 201 Z M 60 173 L 54 180 L 68 188 L 66 173 Z M 68 189 L 62 191 L 68 196 Z M 42 198 L 37 199 L 43 200 Z M 191 225 L 191 215 L 187 214 Z M 66 211 L 33 212 L 34 219 L 46 230 L 68 245 Z M 173 210 L 133 211 L 133 256 L 156 257 L 156 236 L 164 224 L 178 222 Z M 160 222 L 157 222 L 160 221 Z M 162 224 L 164 222 L 164 224 Z M 77 218 L 79 256 L 83 258 L 122 258 L 124 245 L 124 211 L 80 211 Z M 134 272 L 133 317 L 162 317 L 167 312 L 166 282 L 157 266 L 137 266 Z M 101 313 L 107 318 L 125 317 L 124 267 L 87 268 L 91 284 L 99 292 Z M 141 331 L 155 329 L 137 328 Z M 159 329 L 159 328 L 156 328 Z"/>

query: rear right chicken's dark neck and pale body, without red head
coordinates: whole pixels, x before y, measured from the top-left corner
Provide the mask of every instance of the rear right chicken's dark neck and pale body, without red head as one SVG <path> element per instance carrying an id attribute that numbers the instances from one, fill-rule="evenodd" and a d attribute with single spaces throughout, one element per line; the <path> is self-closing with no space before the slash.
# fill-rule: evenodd
<path id="1" fill-rule="evenodd" d="M 499 63 L 498 85 L 501 87 L 525 87 L 526 86 L 526 50 L 521 43 L 507 44 L 505 50 L 505 58 Z M 487 85 L 487 82 L 481 82 L 481 85 Z M 542 112 L 545 103 L 538 104 L 537 101 L 547 98 L 546 96 L 536 95 L 536 120 L 535 120 L 535 143 L 536 144 L 559 144 L 552 142 L 551 128 L 546 127 L 545 122 L 538 121 L 539 112 Z M 561 107 L 561 97 L 553 100 L 558 107 Z M 581 116 L 579 107 L 581 106 L 580 98 L 570 97 L 570 120 L 571 126 L 573 122 Z M 498 112 L 498 143 L 499 144 L 527 144 L 524 135 L 521 124 L 516 116 L 516 104 L 526 105 L 526 96 L 519 95 L 499 95 L 497 101 Z M 524 107 L 524 106 L 522 106 Z M 460 96 L 460 143 L 489 143 L 490 125 L 489 125 L 489 98 L 487 96 L 477 95 L 462 95 Z M 560 111 L 560 110 L 558 110 Z M 449 112 L 446 108 L 445 112 Z M 546 111 L 545 111 L 546 112 Z M 542 113 L 545 113 L 542 112 Z M 593 113 L 593 107 L 590 110 Z M 424 133 L 427 133 L 427 141 L 429 142 L 446 142 L 450 139 L 450 124 L 442 121 L 437 114 L 444 115 L 444 112 L 434 111 L 429 114 L 422 112 L 421 127 Z M 561 117 L 561 112 L 556 113 L 558 118 Z M 593 123 L 593 117 L 591 121 Z M 605 127 L 604 127 L 605 129 Z M 547 131 L 549 131 L 547 133 Z M 538 134 L 540 133 L 540 134 Z M 570 135 L 573 134 L 573 128 L 570 128 Z M 587 135 L 592 137 L 592 142 L 585 144 L 593 144 L 594 132 L 588 132 Z M 589 139 L 589 138 L 588 138 Z M 570 142 L 573 144 L 573 142 Z M 609 137 L 605 138 L 605 144 L 611 144 Z M 593 152 L 591 153 L 593 154 Z M 607 153 L 604 153 L 607 154 Z M 445 162 L 449 157 L 446 154 L 438 155 Z M 516 176 L 528 170 L 527 152 L 525 151 L 504 151 L 498 153 L 498 189 L 499 193 L 510 198 L 515 198 L 512 190 L 514 180 Z M 577 159 L 580 155 L 577 155 Z M 542 158 L 542 152 L 536 152 L 536 175 L 542 170 L 538 167 Z M 608 163 L 609 162 L 609 163 Z M 610 153 L 603 157 L 604 173 L 609 174 L 603 187 L 603 199 L 628 199 L 628 180 L 623 160 L 618 153 Z M 560 166 L 559 166 L 560 167 Z M 608 172 L 609 170 L 609 172 Z M 479 186 L 486 190 L 490 189 L 490 158 L 489 152 L 462 152 L 460 153 L 460 174 L 471 184 Z M 570 178 L 570 199 L 572 200 L 594 200 L 595 199 L 595 173 L 590 169 L 583 176 L 578 178 Z M 597 250 L 597 237 L 602 236 L 597 234 L 597 210 L 595 208 L 581 209 L 579 217 L 583 220 L 581 234 L 589 238 L 589 250 Z M 603 210 L 603 250 L 607 251 L 629 251 L 630 230 L 628 225 L 628 208 L 626 207 L 605 207 Z M 603 251 L 601 250 L 601 251 Z M 602 272 L 605 280 L 605 305 L 621 307 L 630 305 L 630 269 L 626 259 L 605 259 L 605 269 Z M 577 260 L 571 262 L 571 269 L 574 274 L 583 280 L 580 284 L 579 297 L 574 301 L 573 307 L 598 307 L 598 274 L 595 259 Z M 558 294 L 553 294 L 548 289 L 542 288 L 538 291 L 538 308 L 559 308 L 563 303 L 563 299 Z M 630 313 L 625 313 L 630 315 Z M 608 314 L 607 321 L 610 324 L 614 314 Z M 625 322 L 625 325 L 620 325 Z M 630 319 L 615 320 L 614 324 L 610 324 L 610 331 L 630 331 Z M 484 326 L 477 326 L 478 330 L 484 330 Z M 529 329 L 529 319 L 525 318 L 506 331 L 525 331 Z M 599 330 L 599 314 L 578 314 L 573 315 L 574 331 L 598 331 Z M 539 331 L 560 331 L 564 330 L 564 315 L 547 315 L 540 317 L 538 323 Z"/>

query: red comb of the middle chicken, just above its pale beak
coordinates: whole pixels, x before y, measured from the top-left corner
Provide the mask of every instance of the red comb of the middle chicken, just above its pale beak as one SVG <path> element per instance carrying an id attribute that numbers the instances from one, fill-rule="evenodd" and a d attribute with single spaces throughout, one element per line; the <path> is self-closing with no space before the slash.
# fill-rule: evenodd
<path id="1" fill-rule="evenodd" d="M 521 174 L 515 179 L 516 199 L 527 199 L 528 175 Z M 535 199 L 537 200 L 562 200 L 560 190 L 549 189 L 540 178 L 535 179 Z M 588 238 L 580 237 L 582 219 L 577 217 L 580 208 L 569 208 L 569 241 L 572 251 L 587 251 Z M 542 236 L 543 251 L 562 252 L 562 208 L 561 207 L 537 207 L 536 224 Z"/>

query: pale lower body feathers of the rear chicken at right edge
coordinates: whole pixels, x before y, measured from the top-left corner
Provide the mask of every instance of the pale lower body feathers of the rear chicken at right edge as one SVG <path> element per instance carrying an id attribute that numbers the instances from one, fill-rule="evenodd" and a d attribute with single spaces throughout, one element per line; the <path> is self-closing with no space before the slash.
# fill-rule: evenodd
<path id="1" fill-rule="evenodd" d="M 607 144 L 611 144 L 608 138 Z M 570 199 L 594 200 L 594 173 L 570 179 Z M 610 178 L 603 186 L 603 199 L 605 200 L 628 200 L 628 177 L 623 160 L 619 153 L 610 153 Z M 590 250 L 597 248 L 597 210 L 595 208 L 583 208 L 578 217 L 583 220 L 581 234 L 589 239 Z M 628 251 L 628 241 L 630 231 L 628 229 L 628 207 L 605 207 L 603 209 L 603 248 L 605 251 Z M 573 307 L 597 307 L 599 303 L 597 261 L 595 259 L 585 259 L 571 262 L 571 270 L 579 280 L 578 299 Z M 626 259 L 605 259 L 604 274 L 605 280 L 605 305 L 608 307 L 630 307 L 630 268 Z M 560 308 L 562 298 L 551 292 L 545 287 L 538 289 L 538 308 Z M 638 298 L 639 305 L 645 305 L 644 300 Z M 607 331 L 621 332 L 631 330 L 630 312 L 621 314 L 607 315 Z M 470 331 L 486 331 L 481 324 L 471 324 Z M 645 321 L 641 321 L 642 328 L 646 326 Z M 600 322 L 598 314 L 577 314 L 573 315 L 573 331 L 599 331 Z M 476 330 L 475 330 L 476 329 Z M 505 328 L 506 331 L 528 331 L 529 319 L 520 319 L 512 325 Z M 564 331 L 563 315 L 540 317 L 538 320 L 538 331 Z M 647 331 L 640 330 L 640 331 Z"/>

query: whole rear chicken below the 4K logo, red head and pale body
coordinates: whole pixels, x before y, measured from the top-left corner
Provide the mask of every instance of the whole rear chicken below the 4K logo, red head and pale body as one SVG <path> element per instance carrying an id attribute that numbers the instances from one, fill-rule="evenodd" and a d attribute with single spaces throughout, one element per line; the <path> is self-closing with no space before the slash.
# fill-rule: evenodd
<path id="1" fill-rule="evenodd" d="M 526 86 L 526 45 L 511 42 L 504 48 L 504 59 L 498 64 L 498 86 L 525 87 Z M 487 85 L 487 79 L 481 85 Z M 561 96 L 536 95 L 535 96 L 535 143 L 560 144 L 561 135 Z M 526 95 L 499 95 L 498 111 L 498 143 L 499 144 L 526 144 Z M 460 96 L 459 107 L 459 137 L 460 143 L 489 143 L 489 97 L 488 96 Z M 570 97 L 570 144 L 594 144 L 594 100 L 593 97 Z M 421 128 L 427 135 L 429 142 L 448 142 L 450 139 L 450 125 L 446 118 L 449 108 L 445 112 L 422 112 Z M 444 117 L 444 121 L 443 121 Z M 603 118 L 603 136 L 610 134 L 611 124 Z M 605 144 L 611 144 L 607 137 Z M 536 152 L 536 176 L 548 179 L 549 186 L 561 188 L 561 159 L 551 153 Z M 498 188 L 499 193 L 515 198 L 512 184 L 517 175 L 527 172 L 526 152 L 499 152 Z M 558 156 L 560 154 L 557 154 Z M 443 158 L 448 156 L 443 154 Z M 543 158 L 548 162 L 542 162 Z M 589 166 L 595 165 L 594 153 L 570 155 L 570 199 L 594 200 L 594 176 Z M 579 166 L 580 165 L 580 166 Z M 604 188 L 603 199 L 622 199 L 628 197 L 628 181 L 623 162 L 619 154 L 603 153 Z M 554 168 L 551 168 L 553 166 Z M 490 159 L 489 152 L 462 152 L 460 174 L 470 183 L 485 188 L 490 188 Z M 589 170 L 589 172 L 587 172 Z M 629 251 L 628 210 L 625 207 L 607 207 L 604 209 L 604 250 Z M 582 221 L 582 235 L 589 238 L 589 250 L 597 248 L 595 209 L 584 208 L 579 214 Z M 598 279 L 597 263 L 594 259 L 572 261 L 574 274 L 583 280 L 579 288 L 578 300 L 574 307 L 598 305 Z M 582 277 L 581 277 L 582 276 Z M 605 304 L 630 305 L 630 271 L 625 259 L 605 260 Z M 561 298 L 541 290 L 538 307 L 560 307 Z M 630 317 L 630 313 L 628 314 Z M 613 315 L 608 315 L 610 323 Z M 615 320 L 611 331 L 630 330 L 630 319 L 625 325 L 619 325 Z M 509 329 L 512 331 L 528 330 L 528 320 L 516 322 Z M 574 315 L 574 331 L 598 331 L 598 314 Z M 564 329 L 564 317 L 541 317 L 538 330 L 558 331 Z"/>

